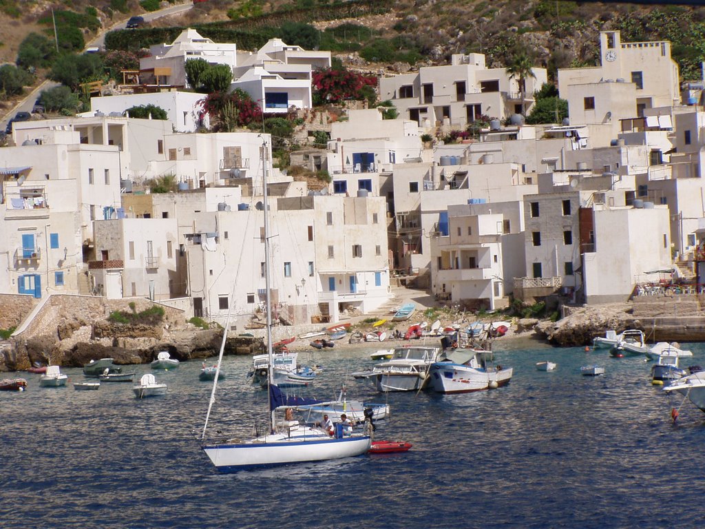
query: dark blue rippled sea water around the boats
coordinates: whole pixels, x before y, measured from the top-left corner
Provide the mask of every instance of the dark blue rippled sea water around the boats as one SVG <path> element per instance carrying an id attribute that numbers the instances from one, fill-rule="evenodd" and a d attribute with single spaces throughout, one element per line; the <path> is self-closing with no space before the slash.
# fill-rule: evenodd
<path id="1" fill-rule="evenodd" d="M 642 358 L 496 341 L 508 387 L 455 396 L 377 394 L 350 372 L 369 349 L 324 351 L 314 393 L 391 404 L 379 439 L 406 454 L 361 456 L 219 475 L 200 450 L 211 390 L 200 363 L 157 373 L 164 397 L 138 401 L 132 384 L 99 391 L 0 392 L 2 528 L 632 528 L 695 527 L 705 414 L 651 386 Z M 705 365 L 705 344 L 682 344 Z M 558 363 L 539 372 L 539 360 Z M 212 431 L 252 432 L 266 393 L 246 379 L 250 358 L 226 358 Z M 582 377 L 598 363 L 603 377 Z M 137 366 L 137 377 L 149 371 Z M 67 369 L 70 382 L 83 379 Z"/>

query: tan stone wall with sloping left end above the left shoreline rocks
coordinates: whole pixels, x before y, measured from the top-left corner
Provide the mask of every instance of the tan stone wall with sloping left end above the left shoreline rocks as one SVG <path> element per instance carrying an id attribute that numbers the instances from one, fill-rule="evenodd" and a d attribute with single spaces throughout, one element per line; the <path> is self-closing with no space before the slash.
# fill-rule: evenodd
<path id="1" fill-rule="evenodd" d="M 130 311 L 128 303 L 135 303 L 135 310 L 140 312 L 152 305 L 164 308 L 164 324 L 171 327 L 185 325 L 182 310 L 154 303 L 145 298 L 106 299 L 96 296 L 52 295 L 42 310 L 16 339 L 27 340 L 37 336 L 53 336 L 62 339 L 71 329 L 92 326 L 98 321 L 106 320 L 114 310 Z M 67 329 L 63 332 L 62 329 Z M 64 336 L 61 336 L 64 334 Z"/>

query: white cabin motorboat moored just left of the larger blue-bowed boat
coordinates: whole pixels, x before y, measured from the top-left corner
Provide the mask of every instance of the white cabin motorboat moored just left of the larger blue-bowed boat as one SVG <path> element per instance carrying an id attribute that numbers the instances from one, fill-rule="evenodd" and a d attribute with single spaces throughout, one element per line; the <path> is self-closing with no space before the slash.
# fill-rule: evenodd
<path id="1" fill-rule="evenodd" d="M 372 378 L 377 391 L 417 391 L 429 377 L 431 364 L 441 348 L 432 346 L 398 346 L 391 360 L 375 365 L 372 370 L 353 373 L 356 379 Z"/>

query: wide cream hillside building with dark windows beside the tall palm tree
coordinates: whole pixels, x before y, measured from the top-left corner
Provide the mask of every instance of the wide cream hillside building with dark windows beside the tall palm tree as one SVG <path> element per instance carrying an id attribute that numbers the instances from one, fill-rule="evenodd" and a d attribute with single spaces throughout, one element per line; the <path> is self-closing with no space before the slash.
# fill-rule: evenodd
<path id="1" fill-rule="evenodd" d="M 379 98 L 391 100 L 401 118 L 419 127 L 465 128 L 480 116 L 504 119 L 530 111 L 534 92 L 548 79 L 545 68 L 532 72 L 521 87 L 505 68 L 487 68 L 484 54 L 454 54 L 445 66 L 379 78 Z"/>

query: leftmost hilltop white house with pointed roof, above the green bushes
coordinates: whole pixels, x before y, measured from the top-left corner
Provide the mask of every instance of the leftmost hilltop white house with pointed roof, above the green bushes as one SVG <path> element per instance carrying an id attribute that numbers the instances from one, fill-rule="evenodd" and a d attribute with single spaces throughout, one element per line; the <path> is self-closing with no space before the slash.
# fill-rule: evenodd
<path id="1" fill-rule="evenodd" d="M 232 70 L 236 55 L 235 44 L 213 42 L 188 28 L 171 44 L 149 47 L 149 56 L 140 59 L 140 84 L 184 87 L 188 85 L 185 64 L 189 59 L 225 64 Z"/>

